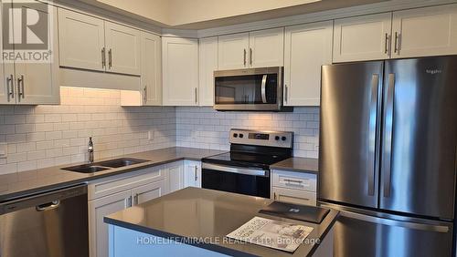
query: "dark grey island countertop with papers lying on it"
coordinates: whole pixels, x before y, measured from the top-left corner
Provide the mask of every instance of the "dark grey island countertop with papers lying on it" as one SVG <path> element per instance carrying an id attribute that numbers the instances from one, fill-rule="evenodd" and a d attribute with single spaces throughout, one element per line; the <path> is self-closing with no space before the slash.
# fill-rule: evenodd
<path id="1" fill-rule="evenodd" d="M 228 243 L 222 239 L 254 216 L 259 216 L 313 227 L 314 230 L 309 234 L 308 239 L 320 239 L 322 242 L 333 227 L 339 213 L 331 209 L 320 224 L 259 213 L 271 202 L 270 199 L 218 190 L 186 188 L 144 202 L 134 208 L 113 213 L 106 216 L 104 221 L 163 238 L 218 239 L 194 245 L 232 256 L 291 257 L 311 256 L 318 244 L 303 242 L 295 252 L 290 253 L 251 243 L 237 241 Z"/>

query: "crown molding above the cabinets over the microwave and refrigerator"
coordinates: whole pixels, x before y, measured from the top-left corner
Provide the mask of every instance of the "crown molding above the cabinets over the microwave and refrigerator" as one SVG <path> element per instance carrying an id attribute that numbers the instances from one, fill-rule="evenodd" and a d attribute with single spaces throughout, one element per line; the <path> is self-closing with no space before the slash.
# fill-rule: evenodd
<path id="1" fill-rule="evenodd" d="M 335 9 L 330 11 L 306 14 L 306 15 L 292 15 L 270 20 L 244 23 L 233 26 L 220 26 L 214 28 L 200 29 L 197 31 L 198 38 L 209 36 L 221 36 L 246 31 L 255 31 L 266 28 L 293 26 L 307 23 L 314 23 L 326 20 L 333 20 L 336 18 L 345 18 L 358 15 L 371 15 L 392 11 L 399 11 L 405 9 L 412 9 L 418 7 L 425 7 L 430 5 L 446 5 L 456 3 L 455 0 L 391 0 L 387 2 L 359 5 L 347 7 L 342 9 Z"/>

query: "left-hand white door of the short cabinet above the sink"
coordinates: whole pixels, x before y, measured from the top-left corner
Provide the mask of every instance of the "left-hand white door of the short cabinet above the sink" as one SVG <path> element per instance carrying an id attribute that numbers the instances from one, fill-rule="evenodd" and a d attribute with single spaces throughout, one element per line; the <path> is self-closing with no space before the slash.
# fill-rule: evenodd
<path id="1" fill-rule="evenodd" d="M 103 20 L 58 8 L 61 67 L 105 70 Z"/>

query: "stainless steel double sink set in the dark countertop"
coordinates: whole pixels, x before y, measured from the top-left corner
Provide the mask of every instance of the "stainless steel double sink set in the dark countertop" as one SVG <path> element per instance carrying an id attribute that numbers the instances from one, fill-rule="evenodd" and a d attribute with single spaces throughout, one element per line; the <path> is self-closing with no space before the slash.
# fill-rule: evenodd
<path id="1" fill-rule="evenodd" d="M 102 170 L 111 170 L 116 168 L 122 168 L 134 164 L 139 164 L 149 161 L 147 159 L 134 159 L 134 158 L 118 158 L 118 159 L 108 159 L 94 163 L 82 164 L 77 166 L 71 166 L 62 168 L 62 170 L 69 170 L 80 173 L 93 173 Z"/>

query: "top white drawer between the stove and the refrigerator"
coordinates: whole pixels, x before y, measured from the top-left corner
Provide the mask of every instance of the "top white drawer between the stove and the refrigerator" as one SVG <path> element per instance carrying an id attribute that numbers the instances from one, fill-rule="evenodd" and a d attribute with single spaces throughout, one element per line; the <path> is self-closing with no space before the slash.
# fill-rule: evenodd
<path id="1" fill-rule="evenodd" d="M 272 186 L 315 192 L 317 186 L 317 176 L 311 173 L 273 170 Z"/>

